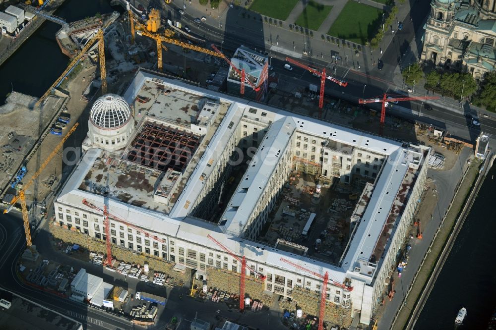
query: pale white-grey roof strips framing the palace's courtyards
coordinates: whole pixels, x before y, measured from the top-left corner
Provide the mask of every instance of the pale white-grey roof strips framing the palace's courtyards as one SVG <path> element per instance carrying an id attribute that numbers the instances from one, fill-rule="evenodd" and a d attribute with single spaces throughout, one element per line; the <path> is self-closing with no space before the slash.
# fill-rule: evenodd
<path id="1" fill-rule="evenodd" d="M 206 142 L 201 153 L 197 154 L 199 159 L 197 163 L 194 163 L 194 168 L 191 168 L 190 173 L 187 172 L 186 175 L 183 175 L 181 181 L 184 184 L 184 189 L 182 189 L 169 214 L 164 213 L 160 206 L 154 205 L 150 197 L 151 190 L 140 191 L 139 189 L 142 187 L 133 190 L 132 194 L 136 194 L 136 196 L 133 195 L 132 199 L 128 201 L 111 199 L 110 209 L 112 213 L 153 232 L 183 238 L 209 249 L 219 250 L 219 247 L 207 238 L 207 235 L 210 234 L 215 239 L 222 241 L 232 251 L 240 251 L 242 248 L 248 260 L 297 273 L 299 272 L 297 269 L 281 262 L 280 258 L 284 257 L 319 273 L 328 271 L 330 278 L 337 282 L 343 282 L 345 277 L 349 277 L 350 272 L 353 271 L 355 263 L 362 259 L 370 260 L 374 251 L 375 253 L 380 251 L 379 238 L 388 216 L 392 211 L 394 212 L 398 203 L 405 202 L 405 185 L 414 182 L 419 166 L 424 165 L 424 154 L 428 151 L 426 147 L 403 146 L 400 142 L 192 86 L 179 79 L 161 77 L 146 70 L 139 70 L 136 73 L 134 80 L 124 94 L 124 98 L 130 103 L 134 102 L 138 93 L 139 95 L 143 93 L 143 86 L 150 83 L 163 85 L 163 88 L 155 87 L 160 91 L 175 90 L 177 91 L 175 93 L 180 95 L 197 95 L 195 98 L 217 100 L 219 104 L 225 105 L 225 110 L 221 111 L 219 122 L 212 129 L 209 137 L 204 138 Z M 167 108 L 166 105 L 163 107 Z M 230 205 L 223 215 L 223 218 L 226 219 L 225 223 L 219 226 L 215 223 L 194 219 L 190 216 L 190 212 L 192 203 L 201 191 L 202 180 L 200 177 L 208 177 L 211 174 L 211 168 L 214 167 L 212 165 L 218 161 L 218 156 L 226 147 L 230 137 L 236 134 L 236 128 L 243 122 L 243 119 L 250 119 L 251 117 L 252 120 L 256 120 L 257 115 L 253 115 L 249 111 L 252 109 L 270 113 L 272 122 L 267 128 L 263 142 L 258 147 L 257 157 L 248 166 L 238 190 L 232 196 Z M 154 111 L 161 111 L 160 106 L 157 106 Z M 327 138 L 335 141 L 336 144 L 343 144 L 350 148 L 370 150 L 373 153 L 383 155 L 386 159 L 374 189 L 367 192 L 367 198 L 370 199 L 369 203 L 363 206 L 365 210 L 360 210 L 360 214 L 363 214 L 363 221 L 358 224 L 340 267 L 240 239 L 239 229 L 236 230 L 240 224 L 243 226 L 243 223 L 247 221 L 251 210 L 260 197 L 260 192 L 272 175 L 278 161 L 278 154 L 282 154 L 287 148 L 295 131 Z M 96 194 L 91 189 L 81 188 L 85 184 L 85 177 L 92 171 L 93 164 L 100 155 L 101 152 L 90 150 L 84 156 L 86 160 L 77 166 L 65 184 L 58 198 L 60 202 L 86 208 L 82 205 L 82 200 L 87 199 L 95 205 L 103 206 L 103 196 Z M 91 174 L 91 177 L 93 175 Z M 104 179 L 105 177 L 101 178 L 101 180 Z M 149 184 L 155 187 L 159 182 L 157 177 L 155 182 L 149 181 Z M 399 196 L 403 196 L 401 197 L 403 200 Z M 133 200 L 136 202 L 132 203 Z M 139 201 L 145 203 L 139 205 Z M 90 210 L 88 209 L 88 211 Z M 357 275 L 357 277 L 366 283 L 372 282 L 372 276 L 360 277 Z"/>

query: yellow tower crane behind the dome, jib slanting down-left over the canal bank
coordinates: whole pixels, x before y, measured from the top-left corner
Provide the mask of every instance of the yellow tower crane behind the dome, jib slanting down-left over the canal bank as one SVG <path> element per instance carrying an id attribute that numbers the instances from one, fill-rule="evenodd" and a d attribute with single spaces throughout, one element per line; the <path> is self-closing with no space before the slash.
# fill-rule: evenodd
<path id="1" fill-rule="evenodd" d="M 114 12 L 112 15 L 119 15 L 118 12 Z M 112 19 L 109 19 L 107 23 L 105 23 L 102 27 L 98 29 L 98 32 L 96 35 L 86 43 L 86 45 L 83 47 L 81 52 L 79 52 L 78 55 L 76 55 L 70 64 L 67 66 L 67 68 L 62 72 L 61 76 L 57 78 L 57 80 L 50 86 L 48 91 L 43 94 L 43 96 L 36 102 L 36 106 L 39 106 L 47 97 L 52 94 L 52 92 L 55 90 L 57 86 L 62 82 L 62 80 L 69 74 L 69 72 L 74 68 L 74 66 L 79 63 L 81 58 L 84 56 L 84 54 L 95 44 L 96 41 L 98 41 L 98 52 L 99 52 L 99 58 L 100 58 L 100 76 L 102 79 L 102 93 L 107 94 L 107 71 L 105 70 L 105 45 L 104 45 L 104 38 L 103 38 L 103 32 L 105 29 L 113 22 Z"/>

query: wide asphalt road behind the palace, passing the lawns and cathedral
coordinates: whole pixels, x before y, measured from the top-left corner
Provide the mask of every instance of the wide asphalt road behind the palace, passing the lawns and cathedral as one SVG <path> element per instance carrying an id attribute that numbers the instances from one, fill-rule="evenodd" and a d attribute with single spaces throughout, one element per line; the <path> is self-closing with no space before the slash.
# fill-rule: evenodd
<path id="1" fill-rule="evenodd" d="M 286 56 L 297 58 L 306 64 L 326 67 L 328 73 L 334 73 L 338 79 L 347 81 L 348 86 L 344 88 L 327 81 L 325 93 L 354 103 L 358 103 L 360 98 L 380 97 L 383 93 L 393 95 L 408 94 L 404 90 L 404 86 L 398 87 L 394 84 L 393 77 L 398 65 L 402 64 L 403 58 L 411 54 L 417 56 L 422 52 L 422 45 L 417 40 L 420 40 L 422 28 L 430 10 L 429 5 L 420 4 L 419 2 L 412 4 L 412 10 L 407 16 L 411 16 L 412 20 L 410 21 L 410 19 L 406 18 L 402 22 L 402 30 L 397 29 L 396 22 L 393 38 L 389 39 L 388 42 L 381 41 L 379 50 L 375 51 L 374 54 L 362 53 L 360 57 L 356 57 L 352 49 L 341 47 L 338 52 L 332 51 L 333 53 L 339 53 L 341 56 L 341 59 L 336 61 L 330 56 L 329 49 L 331 47 L 329 43 L 322 42 L 317 36 L 315 36 L 315 39 L 308 39 L 289 30 L 263 24 L 259 20 L 260 16 L 256 13 L 250 12 L 254 19 L 247 23 L 246 19 L 240 16 L 241 11 L 236 8 L 227 8 L 226 13 L 224 15 L 219 13 L 221 17 L 217 19 L 217 13 L 212 14 L 210 12 L 212 16 L 209 16 L 206 13 L 198 12 L 198 10 L 187 4 L 186 9 L 184 9 L 182 1 L 173 2 L 169 6 L 163 3 L 155 3 L 155 0 L 134 2 L 142 3 L 145 8 L 162 7 L 163 17 L 181 21 L 183 26 L 187 25 L 192 35 L 206 40 L 204 47 L 210 48 L 210 45 L 215 43 L 216 45 L 221 45 L 224 53 L 228 55 L 241 45 L 259 51 L 266 51 L 270 57 L 270 64 L 273 66 L 274 71 L 279 74 L 279 77 L 291 79 L 295 85 L 302 87 L 308 87 L 309 83 L 318 85 L 319 79 L 299 67 L 294 67 L 293 71 L 284 70 L 283 65 Z M 184 10 L 185 13 L 181 14 L 180 10 Z M 193 21 L 194 18 L 203 15 L 207 18 L 205 22 L 198 24 Z M 224 22 L 221 21 L 222 17 L 225 19 Z M 222 28 L 219 27 L 219 23 L 222 24 Z M 384 38 L 384 40 L 386 39 L 388 38 Z M 302 55 L 304 49 L 309 54 L 311 53 L 312 56 Z M 382 54 L 379 53 L 380 50 L 382 50 Z M 377 61 L 379 58 L 384 63 L 384 67 L 381 70 L 378 70 L 376 65 L 371 64 L 372 61 Z M 359 65 L 360 70 L 358 69 Z M 442 97 L 440 98 L 442 99 Z M 425 104 L 429 104 L 429 101 L 426 101 Z M 423 101 L 405 101 L 388 108 L 386 113 L 432 124 L 437 128 L 448 131 L 450 135 L 470 141 L 474 141 L 481 130 L 492 135 L 496 134 L 496 122 L 494 119 L 492 117 L 482 117 L 481 114 L 470 110 L 468 105 L 465 105 L 464 109 L 438 106 L 434 103 L 431 103 L 431 106 L 433 110 L 427 111 Z M 380 110 L 380 104 L 378 103 L 368 104 L 367 107 Z M 470 118 L 474 116 L 481 123 L 481 126 L 472 125 L 472 120 L 466 116 Z"/>

